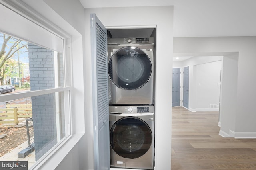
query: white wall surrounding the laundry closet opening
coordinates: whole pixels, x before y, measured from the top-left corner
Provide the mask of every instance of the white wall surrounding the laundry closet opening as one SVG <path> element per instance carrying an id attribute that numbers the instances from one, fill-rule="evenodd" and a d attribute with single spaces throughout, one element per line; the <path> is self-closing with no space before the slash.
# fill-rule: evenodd
<path id="1" fill-rule="evenodd" d="M 138 13 L 138 11 L 140 11 Z M 156 170 L 170 169 L 171 164 L 171 103 L 172 103 L 172 78 L 165 73 L 171 73 L 172 56 L 166 55 L 172 53 L 172 6 L 153 6 L 153 7 L 129 7 L 129 8 L 86 8 L 86 65 L 85 69 L 91 72 L 90 59 L 90 13 L 96 13 L 102 23 L 108 27 L 156 27 Z M 139 15 L 138 15 L 139 14 Z M 161 19 L 160 19 L 161 18 Z M 163 74 L 164 73 L 164 74 Z M 91 78 L 88 77 L 88 82 Z M 91 94 L 91 88 L 86 93 Z M 88 98 L 89 100 L 90 98 Z M 92 112 L 92 103 L 88 103 L 86 108 Z M 92 115 L 88 115 L 88 153 L 89 169 L 93 169 L 93 125 Z M 163 131 L 163 129 L 165 129 Z M 166 133 L 168 131 L 168 133 Z M 164 146 L 164 147 L 163 147 Z"/>

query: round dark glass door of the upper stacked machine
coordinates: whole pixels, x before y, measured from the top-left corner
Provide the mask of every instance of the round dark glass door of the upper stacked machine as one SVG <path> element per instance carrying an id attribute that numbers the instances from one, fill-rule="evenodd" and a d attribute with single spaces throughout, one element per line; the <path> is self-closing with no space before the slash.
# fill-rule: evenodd
<path id="1" fill-rule="evenodd" d="M 151 76 L 152 64 L 147 54 L 137 47 L 123 47 L 108 62 L 108 75 L 112 82 L 125 90 L 136 90 Z"/>

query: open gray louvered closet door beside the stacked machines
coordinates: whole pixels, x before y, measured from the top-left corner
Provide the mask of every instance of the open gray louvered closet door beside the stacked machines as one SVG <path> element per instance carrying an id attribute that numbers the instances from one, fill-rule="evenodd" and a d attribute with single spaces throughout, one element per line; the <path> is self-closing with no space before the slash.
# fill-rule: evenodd
<path id="1" fill-rule="evenodd" d="M 110 170 L 107 30 L 96 14 L 90 15 L 92 51 L 92 97 L 94 123 L 94 169 Z"/>

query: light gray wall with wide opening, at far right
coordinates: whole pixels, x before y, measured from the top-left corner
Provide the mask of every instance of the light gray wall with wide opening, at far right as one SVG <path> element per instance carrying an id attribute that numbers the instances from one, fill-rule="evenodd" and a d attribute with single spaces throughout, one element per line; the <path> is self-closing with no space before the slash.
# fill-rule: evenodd
<path id="1" fill-rule="evenodd" d="M 220 134 L 225 137 L 256 137 L 256 109 L 253 107 L 256 101 L 256 91 L 253 90 L 256 86 L 255 47 L 256 37 L 174 38 L 174 53 L 218 53 L 224 56 L 223 68 L 227 71 L 223 69 L 222 88 L 228 84 L 226 88 L 230 89 L 222 89 L 221 94 Z M 224 77 L 224 71 L 229 75 Z"/>

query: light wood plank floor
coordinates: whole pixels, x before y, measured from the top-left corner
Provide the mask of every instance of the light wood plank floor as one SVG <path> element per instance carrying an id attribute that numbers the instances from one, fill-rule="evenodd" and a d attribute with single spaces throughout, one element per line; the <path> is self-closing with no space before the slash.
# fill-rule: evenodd
<path id="1" fill-rule="evenodd" d="M 171 170 L 256 170 L 256 139 L 218 135 L 218 112 L 172 108 Z"/>

